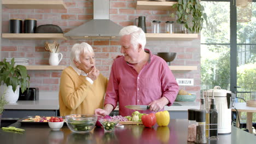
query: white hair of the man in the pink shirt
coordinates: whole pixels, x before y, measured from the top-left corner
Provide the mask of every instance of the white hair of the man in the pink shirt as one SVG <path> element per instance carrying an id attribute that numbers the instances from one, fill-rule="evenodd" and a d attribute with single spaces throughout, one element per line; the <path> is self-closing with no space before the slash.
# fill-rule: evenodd
<path id="1" fill-rule="evenodd" d="M 143 30 L 137 26 L 127 26 L 120 30 L 119 35 L 124 36 L 130 34 L 131 35 L 131 44 L 133 47 L 137 47 L 137 44 L 142 45 L 142 49 L 144 49 L 146 45 L 146 35 Z"/>

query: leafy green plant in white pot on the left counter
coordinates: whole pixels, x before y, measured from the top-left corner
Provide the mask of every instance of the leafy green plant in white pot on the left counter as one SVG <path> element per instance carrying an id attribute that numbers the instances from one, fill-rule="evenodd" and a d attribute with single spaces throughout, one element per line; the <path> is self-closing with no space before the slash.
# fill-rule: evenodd
<path id="1" fill-rule="evenodd" d="M 24 65 L 16 65 L 14 58 L 11 59 L 11 63 L 0 62 L 0 95 L 1 92 L 6 92 L 4 94 L 5 100 L 8 103 L 16 103 L 19 98 L 19 92 L 21 87 L 21 92 L 23 93 L 26 88 L 30 86 L 30 76 L 27 75 L 27 69 Z"/>

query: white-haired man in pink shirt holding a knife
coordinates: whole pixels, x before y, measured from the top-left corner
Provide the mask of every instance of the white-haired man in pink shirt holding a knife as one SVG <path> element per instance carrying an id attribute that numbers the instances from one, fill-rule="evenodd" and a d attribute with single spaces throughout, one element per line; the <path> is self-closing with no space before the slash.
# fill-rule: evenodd
<path id="1" fill-rule="evenodd" d="M 107 87 L 104 110 L 96 109 L 97 115 L 109 115 L 119 102 L 119 115 L 128 116 L 134 110 L 126 105 L 150 105 L 140 111 L 151 113 L 170 106 L 178 93 L 177 82 L 164 59 L 152 55 L 146 45 L 141 28 L 127 26 L 120 33 L 121 53 L 115 59 Z"/>

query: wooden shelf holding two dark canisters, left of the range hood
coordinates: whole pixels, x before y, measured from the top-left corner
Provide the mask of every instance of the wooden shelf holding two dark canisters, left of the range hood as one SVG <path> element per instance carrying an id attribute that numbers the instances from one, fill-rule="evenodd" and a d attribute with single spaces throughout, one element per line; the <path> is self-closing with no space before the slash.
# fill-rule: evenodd
<path id="1" fill-rule="evenodd" d="M 63 33 L 3 33 L 5 39 L 66 39 Z"/>

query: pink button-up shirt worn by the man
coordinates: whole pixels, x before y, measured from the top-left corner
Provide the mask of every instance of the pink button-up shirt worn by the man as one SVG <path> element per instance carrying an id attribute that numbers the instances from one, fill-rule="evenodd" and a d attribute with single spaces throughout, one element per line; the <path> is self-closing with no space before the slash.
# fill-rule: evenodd
<path id="1" fill-rule="evenodd" d="M 130 116 L 135 110 L 127 109 L 126 105 L 148 105 L 154 100 L 166 97 L 170 106 L 176 99 L 179 86 L 164 59 L 150 53 L 149 61 L 137 73 L 132 64 L 124 57 L 115 59 L 107 87 L 104 104 L 114 108 L 119 101 L 119 115 Z M 139 111 L 154 113 L 153 111 Z"/>

